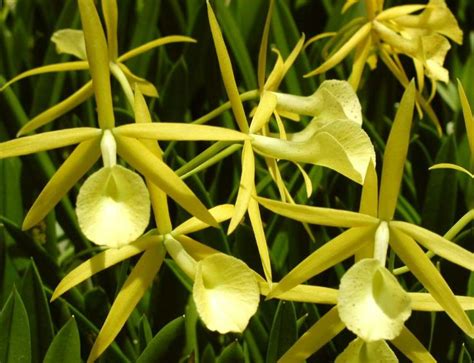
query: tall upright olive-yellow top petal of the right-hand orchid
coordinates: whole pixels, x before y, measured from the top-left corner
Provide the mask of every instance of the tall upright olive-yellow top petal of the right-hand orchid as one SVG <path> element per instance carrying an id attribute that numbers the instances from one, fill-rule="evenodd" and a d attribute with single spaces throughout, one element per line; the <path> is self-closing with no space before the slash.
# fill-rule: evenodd
<path id="1" fill-rule="evenodd" d="M 385 221 L 393 218 L 397 206 L 410 142 L 415 92 L 415 83 L 412 81 L 403 94 L 385 147 L 379 196 L 379 217 Z"/>

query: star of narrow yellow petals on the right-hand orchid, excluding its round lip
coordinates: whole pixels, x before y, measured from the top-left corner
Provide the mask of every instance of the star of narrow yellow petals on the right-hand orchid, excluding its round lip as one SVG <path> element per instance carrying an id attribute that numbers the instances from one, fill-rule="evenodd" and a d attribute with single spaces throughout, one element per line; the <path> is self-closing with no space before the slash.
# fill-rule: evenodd
<path id="1" fill-rule="evenodd" d="M 402 98 L 387 141 L 380 194 L 375 169 L 371 165 L 364 182 L 359 213 L 257 198 L 265 208 L 298 221 L 349 227 L 296 266 L 273 287 L 269 297 L 288 291 L 352 255 L 357 259 L 375 256 L 380 260 L 390 246 L 451 319 L 466 334 L 474 335 L 474 327 L 449 285 L 416 242 L 470 271 L 474 270 L 473 254 L 422 227 L 393 220 L 408 150 L 414 100 L 412 82 Z"/>

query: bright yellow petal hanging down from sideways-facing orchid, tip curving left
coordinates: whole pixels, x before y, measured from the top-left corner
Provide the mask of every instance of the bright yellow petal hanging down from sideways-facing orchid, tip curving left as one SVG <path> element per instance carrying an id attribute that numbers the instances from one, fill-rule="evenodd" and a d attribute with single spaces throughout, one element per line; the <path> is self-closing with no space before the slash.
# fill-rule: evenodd
<path id="1" fill-rule="evenodd" d="M 239 192 L 235 202 L 235 212 L 230 220 L 227 234 L 231 234 L 240 223 L 247 212 L 249 201 L 255 184 L 255 157 L 252 145 L 249 141 L 244 142 L 242 150 L 242 175 L 240 177 Z"/>

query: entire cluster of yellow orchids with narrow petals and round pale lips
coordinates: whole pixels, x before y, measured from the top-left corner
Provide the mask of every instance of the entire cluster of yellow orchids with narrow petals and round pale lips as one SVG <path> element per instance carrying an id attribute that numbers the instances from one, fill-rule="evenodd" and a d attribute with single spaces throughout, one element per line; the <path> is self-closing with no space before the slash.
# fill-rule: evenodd
<path id="1" fill-rule="evenodd" d="M 343 11 L 357 2 L 348 0 Z M 85 238 L 100 246 L 100 251 L 64 276 L 52 293 L 52 301 L 93 275 L 139 255 L 95 338 L 89 362 L 113 343 L 164 261 L 171 260 L 192 285 L 192 299 L 202 323 L 220 334 L 243 333 L 258 311 L 262 296 L 267 300 L 332 305 L 279 357 L 279 362 L 305 361 L 344 328 L 354 334 L 354 339 L 336 362 L 397 362 L 391 345 L 412 361 L 435 362 L 405 325 L 413 311 L 444 311 L 460 331 L 474 337 L 474 326 L 466 314 L 474 310 L 474 297 L 455 295 L 450 281 L 431 260 L 436 255 L 474 271 L 473 252 L 453 242 L 474 213 L 468 212 L 444 236 L 400 220 L 396 213 L 416 119 L 414 111 L 420 105 L 439 126 L 429 102 L 436 93 L 436 82 L 449 82 L 443 66 L 450 48 L 448 39 L 462 42 L 462 32 L 444 0 L 387 9 L 383 0 L 366 0 L 366 16 L 352 20 L 336 34 L 320 34 L 306 43 L 303 35 L 286 59 L 279 50 L 272 49 L 276 57 L 267 72 L 275 6 L 275 1 L 269 0 L 258 54 L 258 89 L 246 93 L 240 93 L 213 7 L 203 3 L 229 102 L 194 122 L 157 120 L 145 99 L 158 97 L 156 87 L 132 73 L 126 62 L 166 44 L 199 47 L 199 43 L 184 35 L 165 36 L 119 55 L 116 0 L 101 0 L 100 9 L 93 0 L 77 3 L 82 30 L 58 30 L 51 41 L 58 53 L 79 60 L 28 70 L 5 83 L 1 91 L 23 78 L 51 72 L 87 70 L 91 80 L 33 117 L 18 131 L 17 138 L 0 143 L 0 158 L 77 144 L 41 191 L 22 226 L 29 230 L 40 223 L 71 189 L 79 186 L 77 223 Z M 281 92 L 285 76 L 304 49 L 327 36 L 333 37 L 324 50 L 329 54 L 327 59 L 306 76 L 327 72 L 354 51 L 349 79 L 325 80 L 307 96 Z M 416 83 L 409 80 L 400 55 L 413 61 Z M 364 110 L 356 91 L 363 86 L 365 65 L 373 69 L 379 58 L 405 91 L 391 123 L 383 160 L 376 168 L 376 148 L 363 128 Z M 111 83 L 111 75 L 116 83 Z M 423 96 L 425 78 L 433 85 L 427 98 Z M 124 96 L 134 123 L 117 125 L 117 95 Z M 474 178 L 474 118 L 461 83 L 459 95 L 471 169 L 449 163 L 432 169 L 456 169 Z M 54 120 L 91 96 L 97 109 L 97 122 L 93 122 L 96 127 L 33 133 L 46 125 L 51 127 Z M 247 101 L 252 105 L 244 105 Z M 226 127 L 205 125 L 228 109 L 236 127 L 229 122 Z M 210 146 L 185 161 L 179 170 L 173 170 L 166 162 L 163 145 L 170 142 L 167 145 L 172 146 L 174 141 L 207 142 Z M 212 201 L 203 202 L 185 183 L 185 178 L 240 150 L 241 166 L 233 168 L 240 171 L 240 180 L 230 203 L 209 205 Z M 339 173 L 345 182 L 360 185 L 359 211 L 297 201 L 282 170 L 294 168 L 301 174 L 306 197 L 310 198 L 319 186 L 305 171 L 307 164 L 330 169 L 325 172 Z M 377 170 L 381 171 L 380 183 Z M 273 183 L 276 193 L 264 196 L 264 188 L 260 187 L 263 182 Z M 173 219 L 169 199 L 190 215 L 186 221 L 178 224 Z M 336 227 L 339 232 L 275 280 L 267 219 L 263 218 L 268 212 L 303 223 L 310 239 L 315 238 L 312 225 Z M 209 241 L 200 242 L 192 236 L 210 227 L 220 228 L 224 222 L 229 222 L 230 235 L 241 228 L 246 215 L 257 244 L 261 263 L 258 271 L 229 253 L 209 247 Z M 307 283 L 348 259 L 353 263 L 337 288 Z M 404 266 L 394 268 L 388 259 L 397 259 Z M 422 292 L 410 292 L 403 286 L 399 276 L 408 271 Z"/>

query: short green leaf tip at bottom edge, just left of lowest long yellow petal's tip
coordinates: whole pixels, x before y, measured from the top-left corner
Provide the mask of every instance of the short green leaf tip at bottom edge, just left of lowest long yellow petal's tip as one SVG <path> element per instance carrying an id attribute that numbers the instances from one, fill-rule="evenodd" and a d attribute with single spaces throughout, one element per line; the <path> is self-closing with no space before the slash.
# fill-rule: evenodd
<path id="1" fill-rule="evenodd" d="M 43 363 L 81 363 L 81 341 L 74 316 L 54 337 Z"/>

